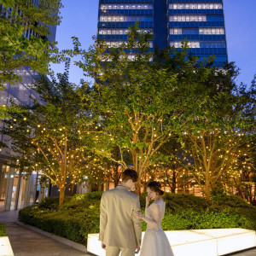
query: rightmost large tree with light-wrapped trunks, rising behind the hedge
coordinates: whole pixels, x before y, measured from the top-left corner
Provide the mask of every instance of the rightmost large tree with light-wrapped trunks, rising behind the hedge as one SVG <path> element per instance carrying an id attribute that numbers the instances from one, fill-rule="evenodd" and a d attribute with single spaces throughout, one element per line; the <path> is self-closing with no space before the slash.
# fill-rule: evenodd
<path id="1" fill-rule="evenodd" d="M 219 181 L 234 172 L 232 164 L 247 145 L 243 135 L 253 124 L 246 112 L 252 100 L 236 86 L 236 73 L 232 63 L 223 70 L 212 68 L 203 84 L 195 83 L 197 100 L 188 106 L 194 118 L 183 137 L 189 139 L 185 146 L 194 159 L 194 177 L 208 200 Z"/>

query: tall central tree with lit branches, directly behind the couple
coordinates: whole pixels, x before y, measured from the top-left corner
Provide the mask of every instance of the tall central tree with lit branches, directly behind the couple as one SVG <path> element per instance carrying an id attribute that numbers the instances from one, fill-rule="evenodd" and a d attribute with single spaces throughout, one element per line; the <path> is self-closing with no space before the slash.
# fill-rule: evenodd
<path id="1" fill-rule="evenodd" d="M 107 45 L 96 40 L 89 52 L 80 51 L 84 62 L 78 63 L 96 81 L 90 104 L 99 122 L 106 121 L 106 125 L 101 122 L 101 139 L 119 148 L 119 164 L 125 168 L 124 154 L 131 154 L 139 176 L 137 193 L 150 158 L 180 126 L 174 93 L 166 93 L 176 88 L 175 74 L 150 62 L 151 38 L 151 33 L 133 27 L 127 44 L 106 51 Z"/>

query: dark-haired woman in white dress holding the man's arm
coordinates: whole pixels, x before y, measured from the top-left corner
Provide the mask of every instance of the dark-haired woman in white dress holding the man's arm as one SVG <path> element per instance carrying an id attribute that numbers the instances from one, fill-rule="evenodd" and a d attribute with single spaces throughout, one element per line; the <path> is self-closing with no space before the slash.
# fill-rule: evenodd
<path id="1" fill-rule="evenodd" d="M 148 224 L 140 255 L 173 256 L 172 248 L 164 230 L 161 228 L 161 221 L 166 208 L 166 203 L 161 198 L 164 191 L 161 190 L 159 182 L 153 181 L 148 183 L 147 192 L 145 216 L 142 212 L 136 212 L 137 218 L 143 219 Z M 154 202 L 149 206 L 150 200 L 154 200 Z"/>

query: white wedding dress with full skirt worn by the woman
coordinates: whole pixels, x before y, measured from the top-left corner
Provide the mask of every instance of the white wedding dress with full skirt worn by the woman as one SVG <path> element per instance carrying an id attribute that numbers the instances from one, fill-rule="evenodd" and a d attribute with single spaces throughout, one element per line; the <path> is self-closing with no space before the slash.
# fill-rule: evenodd
<path id="1" fill-rule="evenodd" d="M 166 203 L 161 199 L 154 201 L 154 203 L 146 209 L 146 218 L 156 221 L 158 228 L 148 224 L 143 238 L 140 256 L 174 256 L 166 234 L 161 227 L 165 210 Z"/>

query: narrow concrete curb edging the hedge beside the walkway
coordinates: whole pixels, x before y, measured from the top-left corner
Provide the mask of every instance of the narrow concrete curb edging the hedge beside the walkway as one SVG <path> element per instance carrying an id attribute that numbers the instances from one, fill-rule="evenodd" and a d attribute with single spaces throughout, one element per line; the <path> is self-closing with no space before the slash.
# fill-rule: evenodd
<path id="1" fill-rule="evenodd" d="M 47 231 L 44 231 L 44 230 L 40 230 L 40 229 L 38 229 L 38 228 L 36 228 L 36 227 L 33 227 L 33 226 L 31 226 L 31 225 L 23 224 L 23 223 L 20 222 L 19 220 L 15 221 L 15 224 L 18 224 L 18 225 L 20 225 L 21 227 L 26 228 L 27 230 L 32 230 L 32 231 L 38 232 L 38 233 L 41 234 L 41 235 L 48 236 L 49 238 L 54 239 L 55 241 L 59 241 L 59 242 L 61 242 L 61 243 L 64 243 L 64 244 L 66 244 L 67 246 L 73 247 L 73 248 L 75 248 L 75 249 L 77 249 L 77 250 L 79 250 L 79 251 L 81 251 L 81 252 L 89 253 L 89 252 L 87 251 L 87 248 L 86 248 L 84 245 L 82 245 L 82 244 L 80 244 L 80 243 L 78 243 L 78 242 L 68 240 L 67 238 L 64 238 L 64 237 L 61 237 L 61 236 L 56 236 L 56 235 L 54 235 L 54 234 L 51 234 L 51 233 L 49 233 L 49 232 L 47 232 Z"/>

